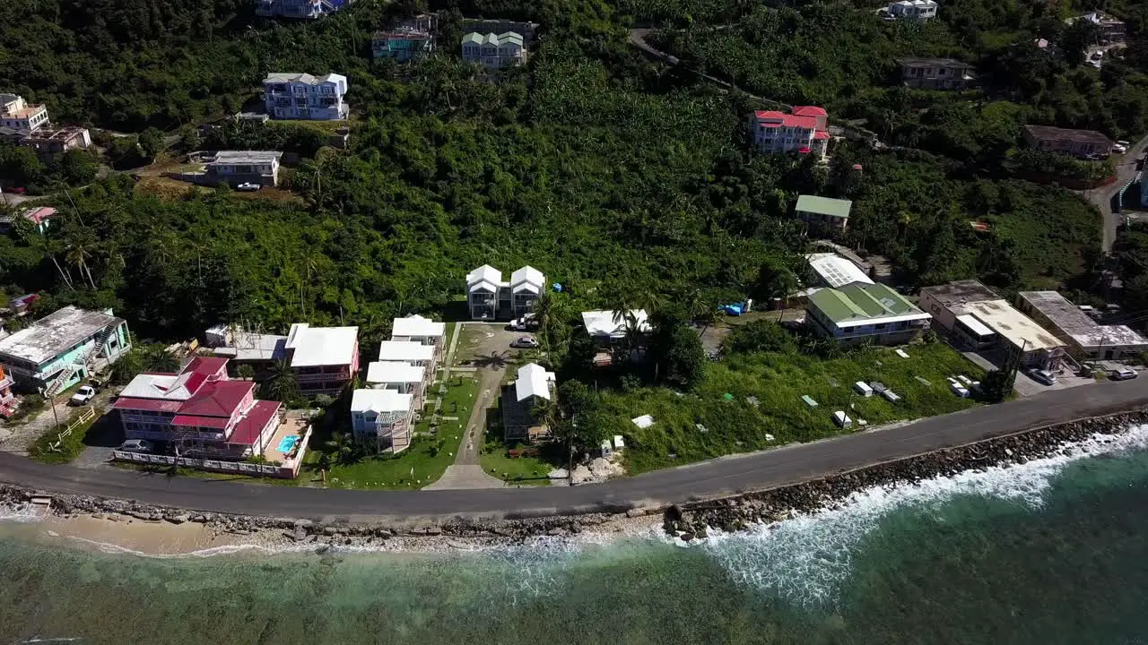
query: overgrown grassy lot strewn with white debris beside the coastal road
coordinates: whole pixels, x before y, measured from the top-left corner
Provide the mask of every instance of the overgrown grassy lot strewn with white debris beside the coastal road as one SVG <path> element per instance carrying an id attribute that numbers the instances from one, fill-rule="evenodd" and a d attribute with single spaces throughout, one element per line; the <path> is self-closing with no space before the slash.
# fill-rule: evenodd
<path id="1" fill-rule="evenodd" d="M 607 432 L 625 435 L 628 469 L 637 474 L 839 434 L 843 430 L 832 422 L 831 414 L 851 405 L 850 417 L 854 421 L 863 419 L 870 427 L 976 405 L 952 395 L 945 379 L 964 374 L 980 380 L 984 372 L 979 367 L 943 343 L 915 344 L 905 350 L 907 359 L 887 348 L 836 359 L 796 351 L 732 355 L 708 365 L 692 394 L 680 395 L 666 388 L 603 393 L 603 406 L 611 418 Z M 893 404 L 876 395 L 864 398 L 855 394 L 852 386 L 861 380 L 885 383 L 901 401 Z M 807 406 L 801 395 L 812 396 L 817 407 Z M 747 401 L 751 396 L 757 397 L 757 405 Z M 630 422 L 642 414 L 652 414 L 654 425 L 639 429 Z M 858 428 L 854 423 L 853 429 Z M 769 441 L 767 434 L 774 440 Z"/>

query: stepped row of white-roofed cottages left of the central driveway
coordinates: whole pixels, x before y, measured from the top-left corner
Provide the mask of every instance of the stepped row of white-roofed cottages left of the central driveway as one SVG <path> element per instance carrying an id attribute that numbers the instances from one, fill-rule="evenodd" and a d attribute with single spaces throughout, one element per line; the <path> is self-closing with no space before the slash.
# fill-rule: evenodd
<path id="1" fill-rule="evenodd" d="M 351 429 L 357 442 L 383 452 L 402 452 L 411 445 L 411 432 L 434 382 L 445 333 L 445 322 L 421 316 L 394 320 L 390 340 L 379 344 L 379 360 L 367 365 L 366 388 L 351 396 Z"/>

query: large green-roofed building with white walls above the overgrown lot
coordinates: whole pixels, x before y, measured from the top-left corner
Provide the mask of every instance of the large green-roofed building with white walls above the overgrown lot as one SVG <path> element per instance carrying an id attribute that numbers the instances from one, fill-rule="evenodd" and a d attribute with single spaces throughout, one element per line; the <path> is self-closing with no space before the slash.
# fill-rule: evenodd
<path id="1" fill-rule="evenodd" d="M 893 345 L 913 341 L 932 317 L 885 285 L 851 282 L 809 294 L 806 325 L 841 344 Z"/>

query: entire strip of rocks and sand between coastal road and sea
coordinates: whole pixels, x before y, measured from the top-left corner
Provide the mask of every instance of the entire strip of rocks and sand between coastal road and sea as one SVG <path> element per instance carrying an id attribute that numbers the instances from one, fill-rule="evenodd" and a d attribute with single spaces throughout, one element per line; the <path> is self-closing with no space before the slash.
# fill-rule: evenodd
<path id="1" fill-rule="evenodd" d="M 726 531 L 742 530 L 753 523 L 779 521 L 794 513 L 816 511 L 838 503 L 856 491 L 876 485 L 916 482 L 1000 464 L 1024 464 L 1030 459 L 1047 457 L 1061 450 L 1086 450 L 1063 446 L 1065 443 L 1084 441 L 1095 434 L 1115 435 L 1128 426 L 1140 423 L 1148 423 L 1148 411 L 1037 428 L 760 492 L 668 507 L 631 508 L 625 513 L 604 512 L 513 520 L 451 519 L 441 522 L 387 526 L 356 524 L 296 518 L 197 513 L 119 499 L 41 494 L 5 484 L 0 484 L 0 505 L 20 507 L 30 504 L 34 497 L 48 497 L 52 500 L 49 512 L 56 516 L 86 515 L 110 521 L 170 524 L 197 522 L 217 534 L 235 536 L 240 543 L 261 546 L 294 545 L 303 549 L 313 547 L 319 552 L 332 546 L 482 547 L 520 543 L 540 536 L 634 533 L 651 526 L 646 515 L 658 514 L 661 515 L 662 529 L 668 535 L 691 541 L 706 537 L 709 528 Z"/>

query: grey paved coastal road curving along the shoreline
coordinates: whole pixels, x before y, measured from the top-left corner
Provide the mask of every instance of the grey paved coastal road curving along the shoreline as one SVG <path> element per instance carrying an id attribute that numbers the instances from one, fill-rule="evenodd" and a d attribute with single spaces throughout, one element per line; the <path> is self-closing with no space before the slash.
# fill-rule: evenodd
<path id="1" fill-rule="evenodd" d="M 170 479 L 0 454 L 0 481 L 193 511 L 372 521 L 621 511 L 766 489 L 1023 429 L 1148 405 L 1148 378 L 1049 391 L 916 423 L 574 488 L 358 491 Z"/>

